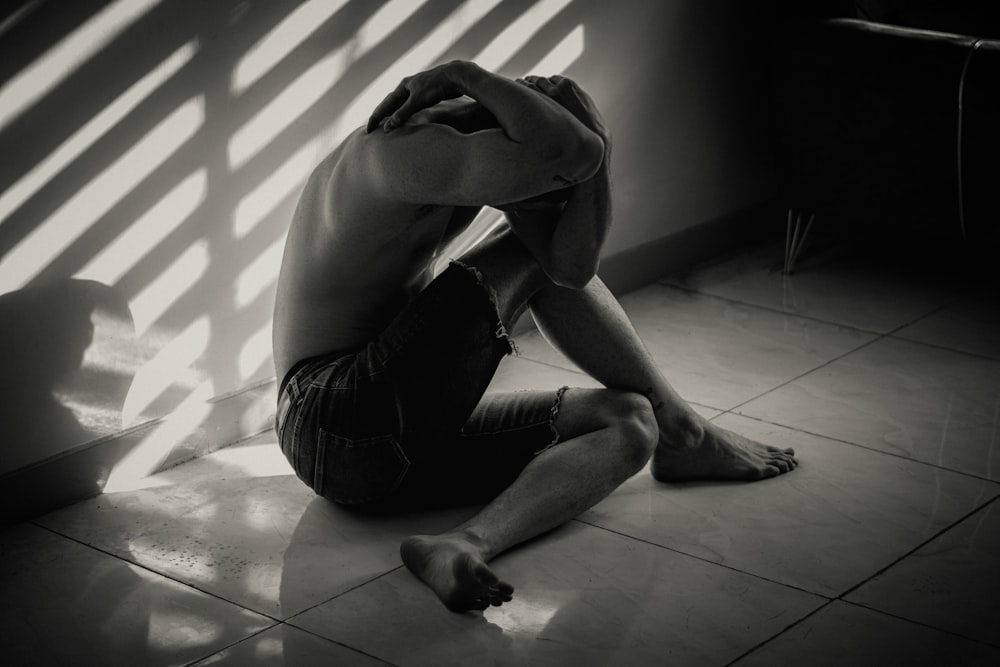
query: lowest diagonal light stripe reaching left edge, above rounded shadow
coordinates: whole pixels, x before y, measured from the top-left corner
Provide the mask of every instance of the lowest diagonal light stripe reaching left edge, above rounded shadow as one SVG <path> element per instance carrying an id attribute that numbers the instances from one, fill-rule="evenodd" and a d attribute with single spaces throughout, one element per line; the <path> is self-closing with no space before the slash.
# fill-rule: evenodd
<path id="1" fill-rule="evenodd" d="M 0 292 L 23 287 L 184 145 L 205 119 L 201 97 L 188 100 L 0 258 Z"/>

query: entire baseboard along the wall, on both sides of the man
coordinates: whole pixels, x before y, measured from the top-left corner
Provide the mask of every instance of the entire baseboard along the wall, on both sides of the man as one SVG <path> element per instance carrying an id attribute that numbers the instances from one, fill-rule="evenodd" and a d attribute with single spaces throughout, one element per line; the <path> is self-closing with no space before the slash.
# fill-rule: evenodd
<path id="1" fill-rule="evenodd" d="M 779 223 L 774 203 L 742 209 L 610 255 L 602 260 L 600 275 L 612 292 L 624 294 L 771 235 Z M 514 333 L 531 328 L 531 318 L 525 317 Z M 178 430 L 154 470 L 269 430 L 274 420 L 275 384 L 272 378 L 211 399 L 207 416 L 192 428 Z M 100 494 L 114 466 L 149 438 L 169 429 L 171 419 L 140 424 L 0 476 L 0 525 Z"/>

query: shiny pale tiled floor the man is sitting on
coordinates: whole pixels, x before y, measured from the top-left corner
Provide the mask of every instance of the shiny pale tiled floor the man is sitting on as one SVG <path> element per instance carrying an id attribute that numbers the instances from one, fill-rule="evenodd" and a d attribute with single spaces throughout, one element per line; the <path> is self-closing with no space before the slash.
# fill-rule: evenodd
<path id="1" fill-rule="evenodd" d="M 633 477 L 495 561 L 517 587 L 446 611 L 404 535 L 271 436 L 0 532 L 10 665 L 1000 664 L 1000 308 L 974 283 L 779 245 L 623 299 L 706 416 L 794 446 L 754 483 Z M 594 386 L 537 333 L 495 388 Z"/>

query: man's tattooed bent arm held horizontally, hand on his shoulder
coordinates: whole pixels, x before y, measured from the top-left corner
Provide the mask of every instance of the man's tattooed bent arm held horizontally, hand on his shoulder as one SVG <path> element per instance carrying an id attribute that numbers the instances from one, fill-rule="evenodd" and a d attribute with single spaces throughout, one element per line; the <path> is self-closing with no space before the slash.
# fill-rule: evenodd
<path id="1" fill-rule="evenodd" d="M 416 111 L 468 95 L 500 127 L 463 133 L 407 125 Z M 382 125 L 382 132 L 374 131 Z M 404 202 L 503 205 L 587 180 L 600 166 L 600 137 L 545 95 L 454 62 L 404 79 L 368 123 L 356 176 Z"/>

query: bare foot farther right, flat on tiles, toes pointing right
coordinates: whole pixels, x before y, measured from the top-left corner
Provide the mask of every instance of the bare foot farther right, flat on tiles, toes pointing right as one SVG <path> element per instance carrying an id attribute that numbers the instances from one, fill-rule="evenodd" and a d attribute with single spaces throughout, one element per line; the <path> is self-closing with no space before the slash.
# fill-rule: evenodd
<path id="1" fill-rule="evenodd" d="M 792 449 L 763 445 L 702 421 L 693 432 L 660 439 L 653 452 L 652 473 L 661 482 L 757 480 L 789 472 L 796 466 Z"/>

